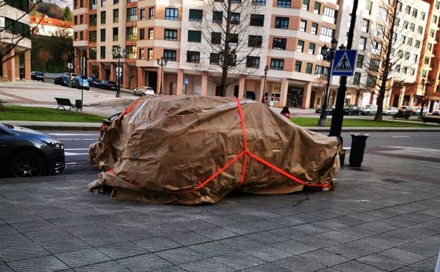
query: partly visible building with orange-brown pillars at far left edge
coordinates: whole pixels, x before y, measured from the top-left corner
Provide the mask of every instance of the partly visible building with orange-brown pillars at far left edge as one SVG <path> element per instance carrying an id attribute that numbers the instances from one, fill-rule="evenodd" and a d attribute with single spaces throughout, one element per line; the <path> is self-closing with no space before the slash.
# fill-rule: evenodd
<path id="1" fill-rule="evenodd" d="M 20 78 L 20 66 L 24 66 L 25 79 L 30 79 L 29 2 L 8 1 L 0 6 L 0 25 L 4 28 L 0 33 L 0 48 L 7 53 L 2 60 L 1 75 L 5 80 L 16 81 Z M 24 63 L 20 64 L 21 54 Z"/>

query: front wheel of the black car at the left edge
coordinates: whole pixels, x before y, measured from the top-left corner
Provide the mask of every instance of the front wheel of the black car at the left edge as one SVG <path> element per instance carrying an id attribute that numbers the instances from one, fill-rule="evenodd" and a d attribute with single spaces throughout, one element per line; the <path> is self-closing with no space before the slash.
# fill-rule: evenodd
<path id="1" fill-rule="evenodd" d="M 13 177 L 39 177 L 46 172 L 46 165 L 40 155 L 24 150 L 13 155 L 10 169 Z"/>

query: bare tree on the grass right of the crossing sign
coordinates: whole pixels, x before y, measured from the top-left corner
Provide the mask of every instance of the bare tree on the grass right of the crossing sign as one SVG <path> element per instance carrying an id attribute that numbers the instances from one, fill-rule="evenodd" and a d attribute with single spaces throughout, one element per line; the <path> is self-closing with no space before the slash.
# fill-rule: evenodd
<path id="1" fill-rule="evenodd" d="M 370 22 L 371 25 L 364 21 L 359 34 L 359 39 L 364 39 L 366 44 L 362 54 L 367 81 L 358 82 L 351 87 L 359 92 L 358 95 L 369 92 L 376 96 L 377 112 L 374 121 L 382 121 L 385 97 L 390 95 L 393 88 L 413 84 L 408 82 L 408 75 L 413 76 L 416 71 L 412 66 L 419 56 L 412 52 L 414 47 L 421 47 L 416 33 L 422 34 L 422 30 L 420 27 L 416 29 L 410 15 L 403 11 L 402 0 L 381 0 L 377 18 Z M 362 37 L 365 28 L 371 29 L 367 37 Z"/>

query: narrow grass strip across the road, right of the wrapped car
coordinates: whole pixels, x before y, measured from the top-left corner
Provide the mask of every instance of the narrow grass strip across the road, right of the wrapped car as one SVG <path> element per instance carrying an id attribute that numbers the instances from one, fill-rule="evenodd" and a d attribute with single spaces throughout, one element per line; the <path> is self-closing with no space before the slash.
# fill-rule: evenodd
<path id="1" fill-rule="evenodd" d="M 299 126 L 317 126 L 317 117 L 292 117 L 290 120 Z M 331 118 L 327 117 L 327 124 L 330 126 Z M 382 121 L 374 122 L 369 119 L 348 119 L 344 118 L 343 126 L 362 126 L 362 127 L 432 127 L 432 125 L 424 125 L 422 123 L 410 123 L 410 122 L 394 122 L 394 121 Z"/>

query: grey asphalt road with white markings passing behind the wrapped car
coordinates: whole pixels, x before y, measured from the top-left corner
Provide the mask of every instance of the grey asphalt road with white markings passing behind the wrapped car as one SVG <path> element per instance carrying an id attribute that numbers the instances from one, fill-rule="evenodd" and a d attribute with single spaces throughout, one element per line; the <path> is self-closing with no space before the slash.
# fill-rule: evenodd
<path id="1" fill-rule="evenodd" d="M 66 148 L 66 170 L 62 175 L 97 173 L 96 167 L 88 164 L 88 147 L 97 141 L 99 133 L 95 131 L 45 131 L 59 139 Z M 345 148 L 351 145 L 349 133 L 343 134 Z M 440 150 L 439 132 L 371 132 L 367 140 L 367 149 L 376 146 L 408 146 Z"/>

